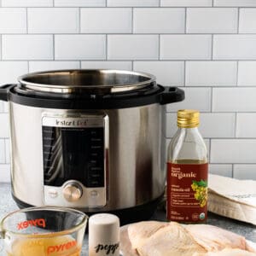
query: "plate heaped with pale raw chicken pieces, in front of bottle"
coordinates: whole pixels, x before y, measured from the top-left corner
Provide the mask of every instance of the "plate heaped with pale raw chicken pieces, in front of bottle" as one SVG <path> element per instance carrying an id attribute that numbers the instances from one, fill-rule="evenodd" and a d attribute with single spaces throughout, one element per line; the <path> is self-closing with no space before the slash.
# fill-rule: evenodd
<path id="1" fill-rule="evenodd" d="M 124 256 L 256 256 L 253 242 L 212 225 L 143 221 L 124 228 Z"/>

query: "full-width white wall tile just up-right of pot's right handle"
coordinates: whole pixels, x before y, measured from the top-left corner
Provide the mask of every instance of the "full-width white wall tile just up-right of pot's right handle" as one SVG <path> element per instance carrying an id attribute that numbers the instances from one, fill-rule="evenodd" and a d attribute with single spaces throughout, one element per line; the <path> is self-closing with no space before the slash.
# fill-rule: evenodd
<path id="1" fill-rule="evenodd" d="M 236 86 L 236 61 L 187 61 L 186 85 Z"/>

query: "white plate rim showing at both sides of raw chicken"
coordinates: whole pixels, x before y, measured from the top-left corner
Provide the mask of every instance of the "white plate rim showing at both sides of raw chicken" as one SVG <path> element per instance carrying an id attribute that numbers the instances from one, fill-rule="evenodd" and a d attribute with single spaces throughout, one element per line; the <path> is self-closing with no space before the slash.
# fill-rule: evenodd
<path id="1" fill-rule="evenodd" d="M 129 224 L 120 228 L 120 254 L 123 256 L 139 256 L 136 250 L 131 248 L 131 241 L 128 236 L 127 229 Z M 247 246 L 252 247 L 256 252 L 256 243 L 247 240 Z"/>

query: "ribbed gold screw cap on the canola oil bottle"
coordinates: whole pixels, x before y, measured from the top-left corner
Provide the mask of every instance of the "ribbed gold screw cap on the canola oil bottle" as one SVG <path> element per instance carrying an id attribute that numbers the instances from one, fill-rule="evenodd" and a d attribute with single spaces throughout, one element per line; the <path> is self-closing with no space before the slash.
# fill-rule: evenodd
<path id="1" fill-rule="evenodd" d="M 199 125 L 199 111 L 194 109 L 180 109 L 177 111 L 177 126 L 194 128 Z"/>

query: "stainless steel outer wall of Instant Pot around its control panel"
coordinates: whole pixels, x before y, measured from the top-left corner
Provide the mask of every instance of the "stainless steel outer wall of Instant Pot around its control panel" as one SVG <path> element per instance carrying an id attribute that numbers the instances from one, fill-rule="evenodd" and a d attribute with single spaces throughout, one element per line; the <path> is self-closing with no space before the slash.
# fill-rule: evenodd
<path id="1" fill-rule="evenodd" d="M 55 201 L 55 205 L 76 207 L 84 212 L 106 212 L 146 204 L 164 192 L 165 106 L 154 103 L 136 108 L 102 109 L 101 112 L 108 119 L 108 127 L 105 127 L 106 204 L 83 207 L 76 202 Z M 35 108 L 9 102 L 13 195 L 32 206 L 47 203 L 42 143 L 44 113 L 72 116 L 86 115 L 88 111 Z M 58 190 L 59 194 L 62 192 Z"/>

